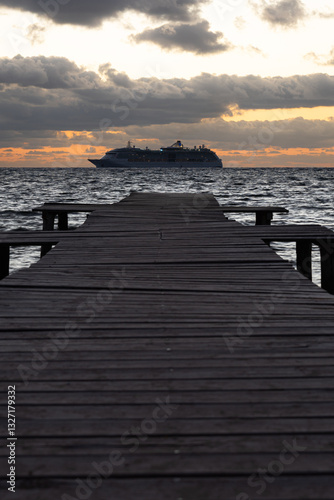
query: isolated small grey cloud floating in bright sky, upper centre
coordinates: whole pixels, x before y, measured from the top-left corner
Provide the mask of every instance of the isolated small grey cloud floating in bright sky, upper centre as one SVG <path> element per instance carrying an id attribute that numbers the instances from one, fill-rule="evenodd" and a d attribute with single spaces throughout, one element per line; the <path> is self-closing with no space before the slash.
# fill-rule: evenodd
<path id="1" fill-rule="evenodd" d="M 136 42 L 152 42 L 167 50 L 213 54 L 231 48 L 228 42 L 222 43 L 222 37 L 223 33 L 210 31 L 208 21 L 203 20 L 196 24 L 164 24 L 131 38 Z"/>

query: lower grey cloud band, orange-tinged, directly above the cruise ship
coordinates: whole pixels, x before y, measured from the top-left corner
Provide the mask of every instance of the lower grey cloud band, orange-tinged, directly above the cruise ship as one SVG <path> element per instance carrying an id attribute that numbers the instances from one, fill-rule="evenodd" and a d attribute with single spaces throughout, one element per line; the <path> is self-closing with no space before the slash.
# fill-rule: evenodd
<path id="1" fill-rule="evenodd" d="M 0 148 L 8 147 L 29 149 L 64 148 L 77 146 L 77 155 L 91 157 L 102 155 L 104 149 L 122 147 L 128 140 L 136 146 L 159 148 L 168 146 L 180 138 L 186 146 L 206 144 L 213 149 L 235 154 L 260 155 L 275 148 L 305 149 L 312 152 L 319 148 L 333 149 L 334 120 L 291 120 L 275 121 L 226 121 L 222 118 L 202 120 L 199 123 L 170 123 L 160 125 L 124 127 L 122 132 L 99 130 L 82 132 L 67 137 L 55 131 L 20 131 L 15 135 L 0 138 Z M 10 143 L 10 144 L 9 144 Z M 84 147 L 82 147 L 84 145 Z M 102 146 L 102 151 L 101 151 Z M 223 154 L 224 156 L 224 154 Z M 334 155 L 332 156 L 333 161 Z"/>

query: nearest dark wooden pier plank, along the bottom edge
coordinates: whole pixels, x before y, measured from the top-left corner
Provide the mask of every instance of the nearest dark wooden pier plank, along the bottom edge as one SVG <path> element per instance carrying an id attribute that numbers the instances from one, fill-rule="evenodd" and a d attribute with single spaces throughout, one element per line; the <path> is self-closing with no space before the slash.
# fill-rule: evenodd
<path id="1" fill-rule="evenodd" d="M 268 465 L 268 464 L 267 464 Z M 92 471 L 93 473 L 94 471 Z M 113 479 L 109 476 L 100 482 L 87 486 L 85 477 L 82 482 L 73 479 L 36 479 L 25 478 L 17 483 L 15 497 L 18 500 L 59 500 L 67 494 L 69 498 L 76 497 L 78 493 L 94 495 L 94 500 L 244 500 L 252 498 L 259 489 L 259 484 L 249 485 L 246 474 L 236 477 L 172 477 L 160 478 L 132 478 Z M 256 477 L 255 477 L 256 479 Z M 272 477 L 271 477 L 272 479 Z M 260 480 L 259 480 L 260 481 Z M 82 486 L 86 484 L 86 488 Z M 260 483 L 261 485 L 262 483 Z M 81 489 L 79 487 L 81 486 Z M 264 483 L 265 488 L 261 494 L 263 500 L 328 500 L 334 495 L 334 485 L 331 474 L 281 474 L 272 483 Z M 82 489 L 83 488 L 83 489 Z M 239 498 L 238 498 L 239 496 Z M 6 492 L 4 500 L 9 500 L 13 494 Z M 243 498 L 244 497 L 244 498 Z M 63 497 L 66 499 L 66 496 Z"/>

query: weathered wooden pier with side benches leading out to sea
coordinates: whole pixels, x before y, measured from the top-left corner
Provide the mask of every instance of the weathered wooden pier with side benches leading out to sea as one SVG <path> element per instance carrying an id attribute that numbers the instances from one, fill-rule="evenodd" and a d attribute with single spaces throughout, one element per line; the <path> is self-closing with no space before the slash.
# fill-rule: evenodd
<path id="1" fill-rule="evenodd" d="M 243 226 L 207 193 L 38 210 L 45 231 L 0 235 L 1 498 L 334 498 L 332 231 L 270 226 L 280 207 Z M 7 276 L 25 244 L 43 258 Z"/>

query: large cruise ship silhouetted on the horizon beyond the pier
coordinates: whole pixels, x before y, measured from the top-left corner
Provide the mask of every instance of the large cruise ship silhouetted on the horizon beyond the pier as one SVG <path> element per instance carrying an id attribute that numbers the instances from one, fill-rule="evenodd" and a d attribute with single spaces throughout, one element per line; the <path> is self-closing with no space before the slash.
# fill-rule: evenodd
<path id="1" fill-rule="evenodd" d="M 99 160 L 88 160 L 97 168 L 119 167 L 219 167 L 223 163 L 214 151 L 205 145 L 194 146 L 192 149 L 176 141 L 171 146 L 160 149 L 136 148 L 128 142 L 126 148 L 107 151 Z"/>

